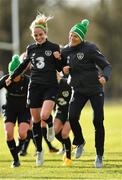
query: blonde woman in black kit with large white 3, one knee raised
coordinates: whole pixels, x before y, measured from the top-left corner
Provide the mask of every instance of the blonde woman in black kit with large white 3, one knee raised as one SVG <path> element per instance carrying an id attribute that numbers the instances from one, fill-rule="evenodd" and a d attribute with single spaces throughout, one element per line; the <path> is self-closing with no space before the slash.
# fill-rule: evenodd
<path id="1" fill-rule="evenodd" d="M 36 144 L 36 166 L 43 164 L 42 129 L 41 121 L 47 123 L 47 139 L 53 141 L 55 137 L 52 120 L 52 110 L 58 93 L 56 71 L 61 70 L 61 60 L 55 58 L 54 52 L 60 52 L 59 45 L 48 41 L 47 22 L 52 17 L 39 15 L 30 25 L 34 43 L 27 47 L 27 57 L 17 70 L 9 76 L 7 86 L 29 63 L 31 63 L 30 84 L 28 90 L 28 104 L 33 121 L 33 137 Z"/>

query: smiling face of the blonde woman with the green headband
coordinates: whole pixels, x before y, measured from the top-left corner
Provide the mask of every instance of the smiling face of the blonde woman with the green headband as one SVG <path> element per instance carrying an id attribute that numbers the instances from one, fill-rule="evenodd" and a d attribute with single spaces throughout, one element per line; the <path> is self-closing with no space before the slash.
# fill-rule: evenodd
<path id="1" fill-rule="evenodd" d="M 47 34 L 41 28 L 35 28 L 32 32 L 32 37 L 38 44 L 42 44 L 46 41 Z"/>

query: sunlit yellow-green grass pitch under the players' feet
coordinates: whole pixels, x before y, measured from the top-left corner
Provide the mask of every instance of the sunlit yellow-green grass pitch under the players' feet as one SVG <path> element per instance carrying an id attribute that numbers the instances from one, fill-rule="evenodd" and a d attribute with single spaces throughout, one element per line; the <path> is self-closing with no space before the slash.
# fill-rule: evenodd
<path id="1" fill-rule="evenodd" d="M 20 157 L 21 167 L 12 169 L 11 155 L 8 151 L 4 124 L 0 121 L 0 179 L 50 179 L 50 180 L 76 180 L 76 179 L 122 179 L 122 102 L 105 104 L 105 154 L 104 167 L 94 168 L 94 128 L 92 124 L 92 111 L 89 104 L 84 108 L 81 115 L 81 124 L 86 139 L 83 156 L 75 160 L 72 167 L 62 166 L 62 156 L 48 152 L 45 142 L 45 162 L 42 167 L 35 167 L 35 148 L 31 142 L 28 155 Z M 70 134 L 72 139 L 72 133 Z M 60 143 L 54 140 L 53 144 L 60 148 Z"/>

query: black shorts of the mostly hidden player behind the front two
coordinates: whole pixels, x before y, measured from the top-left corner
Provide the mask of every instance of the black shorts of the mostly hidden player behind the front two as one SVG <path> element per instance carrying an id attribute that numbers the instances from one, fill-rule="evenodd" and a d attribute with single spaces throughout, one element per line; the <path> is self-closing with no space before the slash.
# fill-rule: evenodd
<path id="1" fill-rule="evenodd" d="M 55 111 L 55 118 L 60 119 L 63 124 L 68 121 L 68 107 L 57 109 Z"/>

